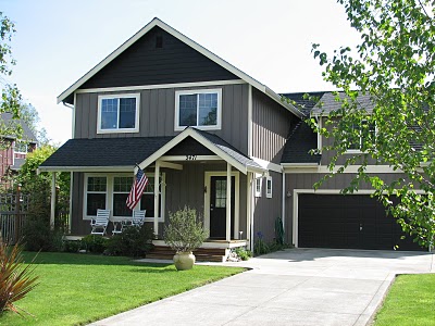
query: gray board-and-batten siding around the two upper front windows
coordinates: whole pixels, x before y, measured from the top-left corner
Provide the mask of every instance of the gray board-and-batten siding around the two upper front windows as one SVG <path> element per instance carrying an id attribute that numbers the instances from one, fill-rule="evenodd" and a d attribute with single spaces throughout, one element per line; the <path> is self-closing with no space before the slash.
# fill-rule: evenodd
<path id="1" fill-rule="evenodd" d="M 197 89 L 222 89 L 222 127 L 219 130 L 208 131 L 217 135 L 247 154 L 248 84 L 127 91 L 127 93 L 140 93 L 138 133 L 97 134 L 98 96 L 116 95 L 120 92 L 77 93 L 74 138 L 175 136 L 179 133 L 174 130 L 175 91 Z"/>

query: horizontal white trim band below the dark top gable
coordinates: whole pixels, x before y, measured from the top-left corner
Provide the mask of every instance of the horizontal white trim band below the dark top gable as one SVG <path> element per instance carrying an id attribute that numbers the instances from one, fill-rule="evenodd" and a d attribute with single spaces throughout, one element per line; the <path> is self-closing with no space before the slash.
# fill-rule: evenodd
<path id="1" fill-rule="evenodd" d="M 200 88 L 210 86 L 224 86 L 224 85 L 240 85 L 246 84 L 243 79 L 232 80 L 213 80 L 213 82 L 195 82 L 195 83 L 178 83 L 178 84 L 158 84 L 158 85 L 141 85 L 141 86 L 123 86 L 123 87 L 108 87 L 108 88 L 86 88 L 77 89 L 76 93 L 94 93 L 94 92 L 124 92 L 136 90 L 150 90 L 150 89 L 166 89 L 166 88 Z"/>

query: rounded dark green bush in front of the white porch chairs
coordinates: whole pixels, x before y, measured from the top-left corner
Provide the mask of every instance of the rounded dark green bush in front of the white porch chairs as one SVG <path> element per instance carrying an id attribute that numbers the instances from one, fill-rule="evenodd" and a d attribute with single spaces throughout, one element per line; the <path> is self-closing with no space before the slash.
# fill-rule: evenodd
<path id="1" fill-rule="evenodd" d="M 124 228 L 107 242 L 107 253 L 111 255 L 145 256 L 152 248 L 152 228 L 144 224 L 141 227 Z"/>

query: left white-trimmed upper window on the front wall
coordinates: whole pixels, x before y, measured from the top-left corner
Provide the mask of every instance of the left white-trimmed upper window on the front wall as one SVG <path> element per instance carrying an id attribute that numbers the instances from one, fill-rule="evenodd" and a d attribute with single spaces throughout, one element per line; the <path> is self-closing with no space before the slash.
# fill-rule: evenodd
<path id="1" fill-rule="evenodd" d="M 139 93 L 98 97 L 98 134 L 139 131 Z"/>

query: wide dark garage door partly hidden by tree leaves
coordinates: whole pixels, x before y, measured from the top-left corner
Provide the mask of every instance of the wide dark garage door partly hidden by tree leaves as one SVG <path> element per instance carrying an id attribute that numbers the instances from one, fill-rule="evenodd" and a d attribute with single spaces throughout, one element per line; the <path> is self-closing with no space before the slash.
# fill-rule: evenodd
<path id="1" fill-rule="evenodd" d="M 370 196 L 301 193 L 298 211 L 300 248 L 423 250 Z"/>

